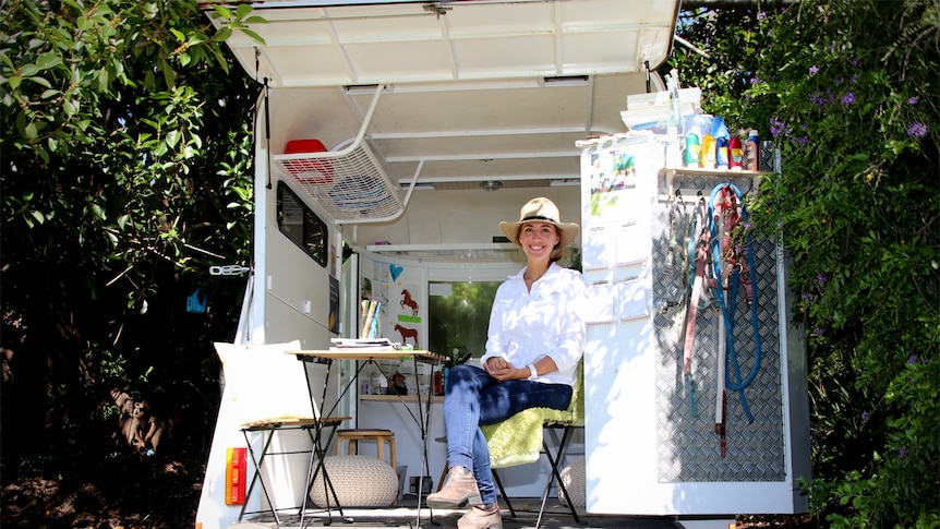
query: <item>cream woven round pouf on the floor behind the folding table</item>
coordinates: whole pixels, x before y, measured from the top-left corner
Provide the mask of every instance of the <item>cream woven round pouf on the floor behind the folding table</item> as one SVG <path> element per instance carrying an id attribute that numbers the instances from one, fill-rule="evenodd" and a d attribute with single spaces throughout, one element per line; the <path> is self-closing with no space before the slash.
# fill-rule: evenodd
<path id="1" fill-rule="evenodd" d="M 326 456 L 323 465 L 336 490 L 340 507 L 387 507 L 398 500 L 398 474 L 387 462 L 372 456 Z M 310 500 L 326 508 L 323 472 L 310 489 Z M 336 501 L 329 496 L 329 505 Z"/>

